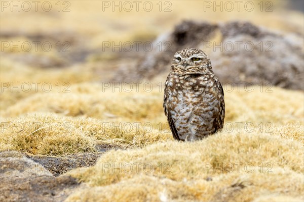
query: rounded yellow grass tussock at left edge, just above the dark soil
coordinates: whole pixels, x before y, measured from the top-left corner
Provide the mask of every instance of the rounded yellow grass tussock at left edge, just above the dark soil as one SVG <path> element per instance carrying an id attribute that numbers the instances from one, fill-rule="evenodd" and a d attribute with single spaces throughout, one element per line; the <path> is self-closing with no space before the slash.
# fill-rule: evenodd
<path id="1" fill-rule="evenodd" d="M 49 156 L 93 151 L 93 139 L 67 121 L 45 114 L 2 120 L 0 148 Z"/>

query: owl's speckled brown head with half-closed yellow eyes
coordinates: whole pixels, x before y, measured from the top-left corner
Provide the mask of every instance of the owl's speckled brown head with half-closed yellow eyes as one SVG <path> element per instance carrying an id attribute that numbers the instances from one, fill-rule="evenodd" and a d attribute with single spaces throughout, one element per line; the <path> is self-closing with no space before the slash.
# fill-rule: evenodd
<path id="1" fill-rule="evenodd" d="M 176 52 L 172 60 L 171 72 L 175 74 L 204 74 L 210 71 L 210 59 L 197 48 L 184 48 Z"/>

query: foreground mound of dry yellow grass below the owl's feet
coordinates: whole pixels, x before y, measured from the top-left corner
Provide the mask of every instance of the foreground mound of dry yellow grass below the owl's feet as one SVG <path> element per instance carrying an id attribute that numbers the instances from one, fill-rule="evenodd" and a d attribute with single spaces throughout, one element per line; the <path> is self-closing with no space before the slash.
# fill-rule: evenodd
<path id="1" fill-rule="evenodd" d="M 298 142 L 261 133 L 109 151 L 94 167 L 72 171 L 93 188 L 66 201 L 250 201 L 270 194 L 300 201 L 302 151 Z"/>

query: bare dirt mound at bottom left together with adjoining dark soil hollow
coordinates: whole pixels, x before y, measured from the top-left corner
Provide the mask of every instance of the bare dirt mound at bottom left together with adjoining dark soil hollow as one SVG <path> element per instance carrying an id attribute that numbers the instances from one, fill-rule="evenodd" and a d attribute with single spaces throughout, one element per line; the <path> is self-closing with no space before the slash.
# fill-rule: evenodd
<path id="1" fill-rule="evenodd" d="M 80 184 L 76 179 L 60 174 L 93 166 L 98 157 L 113 148 L 116 147 L 98 145 L 97 153 L 65 157 L 3 151 L 0 153 L 0 201 L 63 201 Z"/>

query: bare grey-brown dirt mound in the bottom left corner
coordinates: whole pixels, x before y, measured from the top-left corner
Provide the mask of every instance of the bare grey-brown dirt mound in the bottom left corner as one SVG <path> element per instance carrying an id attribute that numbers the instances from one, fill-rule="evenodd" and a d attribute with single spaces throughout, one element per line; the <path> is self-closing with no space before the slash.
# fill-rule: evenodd
<path id="1" fill-rule="evenodd" d="M 0 201 L 63 201 L 79 185 L 69 176 L 54 177 L 16 151 L 0 153 Z"/>

